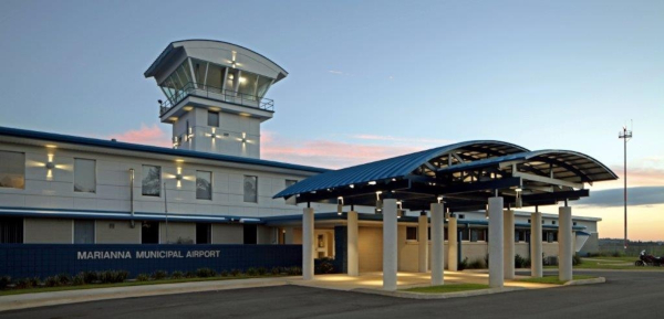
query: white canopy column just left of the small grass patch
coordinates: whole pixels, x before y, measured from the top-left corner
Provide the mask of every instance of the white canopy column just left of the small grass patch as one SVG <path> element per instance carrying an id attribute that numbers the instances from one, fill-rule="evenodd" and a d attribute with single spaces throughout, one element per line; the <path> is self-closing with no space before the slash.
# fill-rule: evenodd
<path id="1" fill-rule="evenodd" d="M 396 200 L 383 200 L 383 289 L 396 290 Z"/>

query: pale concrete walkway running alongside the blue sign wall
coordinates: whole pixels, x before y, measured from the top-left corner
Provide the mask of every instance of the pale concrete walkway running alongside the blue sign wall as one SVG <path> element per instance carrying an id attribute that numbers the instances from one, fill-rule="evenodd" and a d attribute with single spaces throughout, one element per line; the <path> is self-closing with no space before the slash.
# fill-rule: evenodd
<path id="1" fill-rule="evenodd" d="M 208 280 L 0 296 L 0 311 L 106 299 L 282 286 L 297 278 L 301 277 Z"/>

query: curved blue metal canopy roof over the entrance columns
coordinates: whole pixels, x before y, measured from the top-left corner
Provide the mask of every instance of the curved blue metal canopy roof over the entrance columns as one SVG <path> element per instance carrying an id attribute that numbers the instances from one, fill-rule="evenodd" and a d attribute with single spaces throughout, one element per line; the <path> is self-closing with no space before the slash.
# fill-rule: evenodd
<path id="1" fill-rule="evenodd" d="M 274 198 L 335 202 L 342 196 L 346 204 L 373 205 L 377 194 L 402 200 L 407 209 L 423 209 L 443 195 L 448 208 L 477 210 L 496 192 L 515 199 L 506 205 L 517 196 L 525 205 L 551 204 L 587 196 L 584 183 L 614 179 L 613 171 L 580 152 L 529 151 L 504 141 L 477 140 L 329 171 Z"/>

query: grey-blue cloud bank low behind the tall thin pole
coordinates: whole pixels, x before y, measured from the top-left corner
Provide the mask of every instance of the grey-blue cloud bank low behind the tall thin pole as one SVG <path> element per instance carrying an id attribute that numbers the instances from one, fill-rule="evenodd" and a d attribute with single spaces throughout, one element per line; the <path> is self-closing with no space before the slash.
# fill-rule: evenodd
<path id="1" fill-rule="evenodd" d="M 627 205 L 655 205 L 664 203 L 664 187 L 627 188 Z M 591 191 L 589 198 L 577 202 L 579 205 L 615 208 L 622 206 L 623 189 Z"/>

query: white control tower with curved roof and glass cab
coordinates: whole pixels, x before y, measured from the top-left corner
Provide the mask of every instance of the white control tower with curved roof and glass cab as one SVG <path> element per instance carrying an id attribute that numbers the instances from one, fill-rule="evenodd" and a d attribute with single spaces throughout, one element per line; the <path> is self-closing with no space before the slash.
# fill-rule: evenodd
<path id="1" fill-rule="evenodd" d="M 144 75 L 166 96 L 159 118 L 173 125 L 174 148 L 260 158 L 260 124 L 274 114 L 264 96 L 288 72 L 247 47 L 185 40 L 168 44 Z"/>

